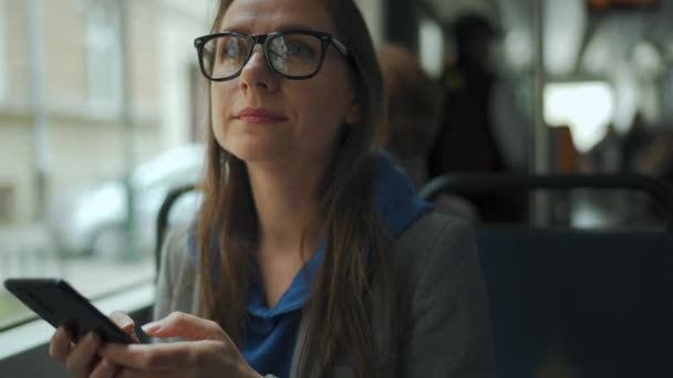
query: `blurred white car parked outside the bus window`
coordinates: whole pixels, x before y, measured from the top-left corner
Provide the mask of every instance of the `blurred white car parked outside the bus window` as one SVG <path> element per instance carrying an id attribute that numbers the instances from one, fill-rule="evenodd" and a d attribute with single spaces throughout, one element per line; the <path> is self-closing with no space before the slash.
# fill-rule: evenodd
<path id="1" fill-rule="evenodd" d="M 156 219 L 168 191 L 197 183 L 204 174 L 204 146 L 185 145 L 169 149 L 141 164 L 131 174 L 135 202 L 135 237 L 138 250 L 155 245 Z M 122 179 L 105 182 L 68 201 L 52 214 L 52 229 L 59 246 L 66 253 L 122 256 L 125 251 L 124 224 L 127 198 Z M 189 222 L 200 198 L 184 196 L 170 211 L 172 223 Z"/>

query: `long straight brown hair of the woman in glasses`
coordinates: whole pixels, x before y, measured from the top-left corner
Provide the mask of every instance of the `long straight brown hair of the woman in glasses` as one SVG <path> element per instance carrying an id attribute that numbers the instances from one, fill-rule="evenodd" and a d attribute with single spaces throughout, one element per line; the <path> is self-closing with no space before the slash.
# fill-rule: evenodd
<path id="1" fill-rule="evenodd" d="M 234 0 L 220 0 L 214 30 Z M 361 111 L 358 124 L 342 125 L 342 140 L 319 183 L 319 231 L 325 253 L 313 295 L 303 308 L 306 343 L 299 376 L 329 376 L 342 356 L 358 377 L 380 375 L 377 360 L 396 348 L 394 295 L 386 252 L 390 240 L 373 206 L 373 138 L 383 122 L 382 77 L 364 19 L 352 0 L 323 0 L 336 36 L 351 53 L 352 77 Z M 211 117 L 209 116 L 210 124 Z M 211 126 L 211 125 L 209 125 Z M 208 128 L 204 203 L 197 218 L 199 315 L 211 318 L 240 347 L 246 300 L 259 240 L 257 209 L 245 162 L 222 149 Z M 304 234 L 306 234 L 304 230 Z M 302 241 L 303 245 L 303 241 Z M 214 269 L 218 266 L 219 270 Z M 372 335 L 371 287 L 385 318 L 383 339 Z M 375 351 L 381 353 L 381 355 Z"/>

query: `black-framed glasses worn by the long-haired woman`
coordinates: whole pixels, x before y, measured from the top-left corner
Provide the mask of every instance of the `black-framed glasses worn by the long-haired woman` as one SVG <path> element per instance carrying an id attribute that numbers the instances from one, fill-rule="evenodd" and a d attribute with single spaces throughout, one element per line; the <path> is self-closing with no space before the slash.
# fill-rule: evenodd
<path id="1" fill-rule="evenodd" d="M 262 45 L 268 67 L 290 80 L 315 76 L 330 45 L 349 59 L 346 48 L 333 35 L 308 30 L 259 35 L 222 32 L 194 40 L 203 74 L 216 82 L 240 75 L 257 44 Z"/>

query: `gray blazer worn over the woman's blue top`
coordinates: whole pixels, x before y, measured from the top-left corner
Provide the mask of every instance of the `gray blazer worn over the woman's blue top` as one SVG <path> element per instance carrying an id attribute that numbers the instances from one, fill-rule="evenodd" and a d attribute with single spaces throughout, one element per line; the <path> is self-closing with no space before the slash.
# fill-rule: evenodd
<path id="1" fill-rule="evenodd" d="M 154 317 L 174 311 L 194 313 L 198 283 L 189 264 L 187 231 L 168 235 L 162 252 Z M 391 358 L 391 376 L 401 378 L 491 378 L 495 367 L 491 350 L 488 304 L 475 238 L 464 221 L 437 212 L 416 220 L 395 241 L 391 261 L 395 293 L 407 308 L 401 325 L 400 355 Z M 376 297 L 376 286 L 372 287 Z M 376 328 L 373 303 L 373 337 Z M 297 378 L 298 350 L 306 340 L 300 325 L 290 378 Z M 333 377 L 352 377 L 348 364 L 339 365 Z M 272 376 L 267 376 L 272 377 Z"/>

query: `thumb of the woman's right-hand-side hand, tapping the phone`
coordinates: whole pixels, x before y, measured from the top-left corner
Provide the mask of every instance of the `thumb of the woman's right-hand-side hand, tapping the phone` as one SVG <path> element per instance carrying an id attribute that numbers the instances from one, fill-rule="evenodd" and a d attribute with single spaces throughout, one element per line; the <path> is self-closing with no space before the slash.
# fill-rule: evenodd
<path id="1" fill-rule="evenodd" d="M 228 340 L 229 337 L 215 322 L 180 312 L 145 324 L 143 330 L 152 337 L 183 337 L 188 340 Z"/>

